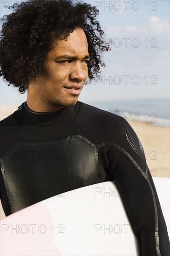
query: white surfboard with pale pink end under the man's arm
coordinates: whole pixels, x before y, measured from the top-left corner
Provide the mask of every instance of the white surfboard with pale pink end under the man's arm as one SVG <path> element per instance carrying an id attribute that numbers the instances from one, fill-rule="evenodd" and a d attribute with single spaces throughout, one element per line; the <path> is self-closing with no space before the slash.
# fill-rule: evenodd
<path id="1" fill-rule="evenodd" d="M 170 227 L 169 178 L 154 178 Z M 166 198 L 165 198 L 166 195 Z M 53 196 L 1 220 L 1 256 L 138 256 L 114 182 Z"/>

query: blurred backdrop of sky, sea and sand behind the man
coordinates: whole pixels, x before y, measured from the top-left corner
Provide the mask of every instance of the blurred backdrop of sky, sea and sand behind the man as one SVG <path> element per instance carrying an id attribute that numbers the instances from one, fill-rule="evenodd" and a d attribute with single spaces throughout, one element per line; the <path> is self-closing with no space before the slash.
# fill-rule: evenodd
<path id="1" fill-rule="evenodd" d="M 0 1 L 0 17 L 21 1 Z M 84 86 L 78 101 L 123 116 L 144 147 L 152 176 L 170 177 L 170 1 L 83 0 L 99 10 L 111 51 L 100 77 Z M 26 94 L 0 79 L 0 119 Z"/>

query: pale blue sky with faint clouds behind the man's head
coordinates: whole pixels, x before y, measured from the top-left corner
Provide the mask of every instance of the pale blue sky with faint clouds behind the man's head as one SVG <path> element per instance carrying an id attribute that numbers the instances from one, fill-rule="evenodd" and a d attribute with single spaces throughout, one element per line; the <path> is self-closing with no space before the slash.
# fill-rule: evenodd
<path id="1" fill-rule="evenodd" d="M 99 10 L 105 43 L 106 66 L 99 81 L 84 88 L 78 101 L 115 101 L 167 98 L 170 95 L 170 1 L 83 0 Z M 20 1 L 0 1 L 0 17 Z M 0 107 L 20 106 L 26 94 L 0 80 Z"/>

